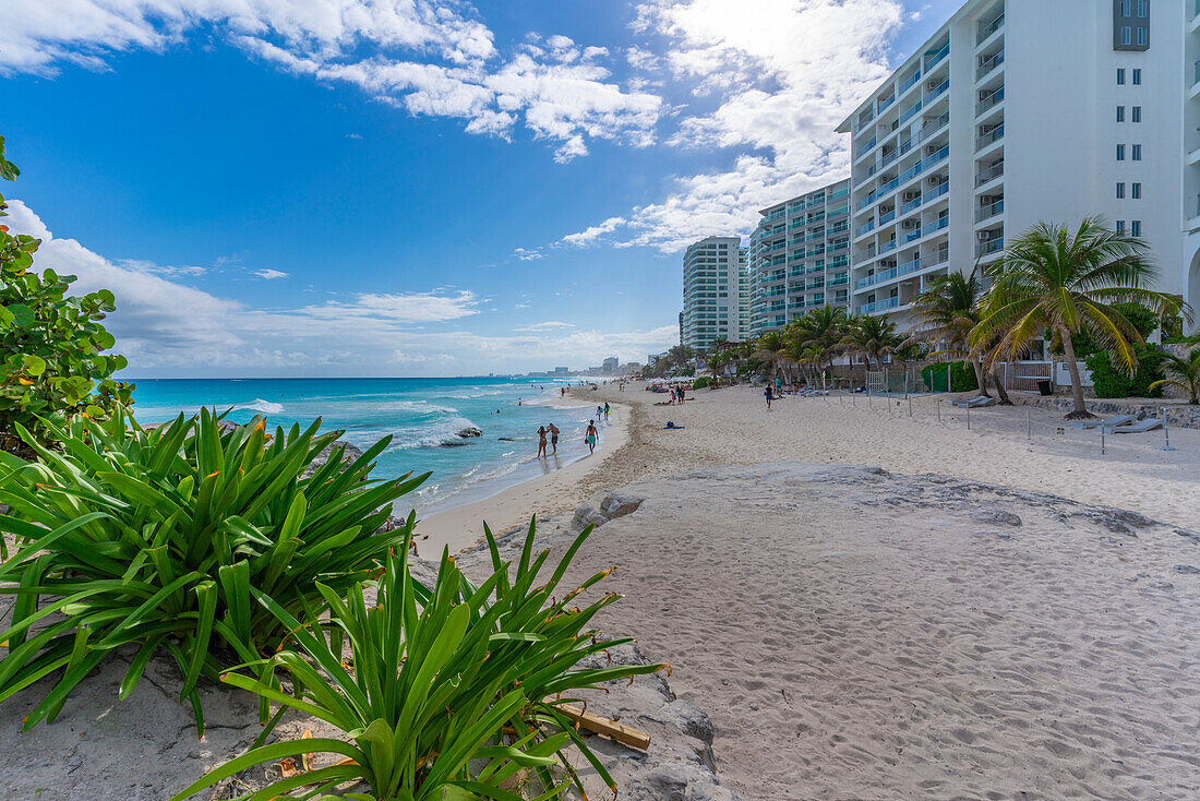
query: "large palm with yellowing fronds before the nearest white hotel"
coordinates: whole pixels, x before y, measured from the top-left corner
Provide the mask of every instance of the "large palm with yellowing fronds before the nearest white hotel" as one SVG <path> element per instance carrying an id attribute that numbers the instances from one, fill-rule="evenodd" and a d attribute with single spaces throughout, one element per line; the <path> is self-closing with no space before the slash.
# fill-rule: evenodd
<path id="1" fill-rule="evenodd" d="M 1067 419 L 1094 417 L 1084 402 L 1072 335 L 1087 331 L 1133 375 L 1133 346 L 1141 343 L 1141 334 L 1112 304 L 1135 303 L 1160 316 L 1184 309 L 1180 299 L 1145 287 L 1157 275 L 1148 250 L 1142 239 L 1115 232 L 1099 217 L 1085 219 L 1074 233 L 1049 222 L 1033 226 L 992 265 L 995 282 L 971 331 L 971 348 L 996 342 L 989 363 L 1002 353 L 1015 358 L 1049 329 L 1070 370 L 1074 408 Z"/>

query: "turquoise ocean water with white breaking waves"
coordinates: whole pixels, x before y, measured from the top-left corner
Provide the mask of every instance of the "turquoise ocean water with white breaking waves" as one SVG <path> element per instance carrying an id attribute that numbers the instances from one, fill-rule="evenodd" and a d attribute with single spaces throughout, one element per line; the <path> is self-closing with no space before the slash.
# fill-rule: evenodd
<path id="1" fill-rule="evenodd" d="M 269 426 L 304 426 L 319 417 L 323 430 L 344 430 L 343 438 L 362 449 L 391 435 L 373 476 L 432 472 L 408 501 L 421 514 L 487 497 L 583 458 L 583 431 L 589 412 L 595 416 L 594 406 L 560 400 L 562 383 L 528 378 L 133 381 L 139 423 L 168 420 L 181 411 L 194 414 L 208 406 L 232 408 L 228 419 L 236 423 L 263 414 Z M 547 423 L 562 429 L 557 460 L 536 459 L 538 426 Z M 472 425 L 484 436 L 457 436 Z M 401 506 L 403 501 L 397 509 Z"/>

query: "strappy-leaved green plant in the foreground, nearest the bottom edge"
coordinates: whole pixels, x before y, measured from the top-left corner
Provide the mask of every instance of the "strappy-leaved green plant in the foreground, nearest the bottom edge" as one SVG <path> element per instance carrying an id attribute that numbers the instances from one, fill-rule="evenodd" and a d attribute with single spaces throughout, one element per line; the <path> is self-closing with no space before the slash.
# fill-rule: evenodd
<path id="1" fill-rule="evenodd" d="M 662 665 L 577 668 L 583 658 L 630 641 L 596 641 L 588 630 L 595 614 L 618 596 L 605 594 L 584 609 L 570 606 L 606 570 L 562 600 L 553 599 L 590 527 L 576 538 L 551 579 L 535 587 L 548 551 L 533 557 L 534 531 L 530 524 L 511 576 L 510 564 L 500 560 L 486 531 L 494 570 L 480 586 L 443 555 L 437 581 L 426 588 L 409 572 L 406 543 L 389 556 L 384 575 L 374 582 L 374 603 L 366 584 L 344 596 L 318 585 L 328 618 L 317 608 L 296 617 L 257 593 L 292 632 L 287 648 L 254 664 L 257 677 L 232 671 L 224 681 L 280 704 L 281 712 L 293 709 L 320 718 L 349 741 L 258 746 L 172 801 L 253 765 L 316 753 L 337 761 L 241 799 L 293 797 L 286 794 L 299 788 L 307 788 L 299 799 L 355 801 L 558 799 L 571 784 L 580 785 L 564 753 L 571 741 L 612 787 L 612 777 L 558 706 L 577 689 Z M 290 694 L 271 679 L 276 669 L 290 674 Z M 325 795 L 346 784 L 352 787 L 344 795 Z M 364 784 L 370 794 L 360 791 Z"/>

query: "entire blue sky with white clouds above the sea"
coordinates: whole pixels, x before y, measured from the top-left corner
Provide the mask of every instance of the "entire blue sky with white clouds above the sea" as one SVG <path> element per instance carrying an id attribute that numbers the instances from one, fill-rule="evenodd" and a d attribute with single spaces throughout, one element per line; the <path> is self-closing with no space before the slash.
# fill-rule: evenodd
<path id="1" fill-rule="evenodd" d="M 642 360 L 958 5 L 7 0 L 6 222 L 134 377 Z"/>

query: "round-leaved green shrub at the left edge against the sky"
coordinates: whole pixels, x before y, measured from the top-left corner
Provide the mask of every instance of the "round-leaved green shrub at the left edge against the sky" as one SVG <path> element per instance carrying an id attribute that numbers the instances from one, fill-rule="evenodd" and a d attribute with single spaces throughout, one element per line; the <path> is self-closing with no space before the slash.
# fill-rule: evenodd
<path id="1" fill-rule="evenodd" d="M 19 171 L 4 157 L 0 178 Z M 0 217 L 7 205 L 0 196 Z M 0 450 L 23 453 L 17 426 L 48 441 L 47 417 L 103 417 L 115 404 L 130 404 L 132 384 L 113 381 L 122 355 L 104 355 L 113 335 L 100 321 L 113 311 L 113 293 L 68 297 L 73 275 L 31 273 L 40 239 L 13 235 L 0 226 Z"/>

